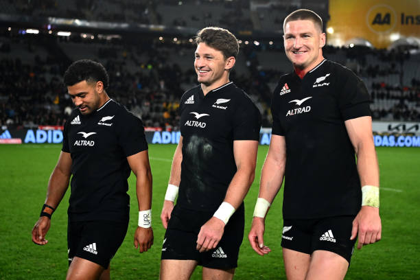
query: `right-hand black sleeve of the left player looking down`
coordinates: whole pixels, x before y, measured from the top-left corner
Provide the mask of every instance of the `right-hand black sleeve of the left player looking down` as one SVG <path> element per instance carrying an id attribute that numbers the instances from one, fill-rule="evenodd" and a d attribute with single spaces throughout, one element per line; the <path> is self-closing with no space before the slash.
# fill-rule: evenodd
<path id="1" fill-rule="evenodd" d="M 145 139 L 143 121 L 127 112 L 124 121 L 119 124 L 118 141 L 126 156 L 132 156 L 143 150 L 148 150 Z"/>

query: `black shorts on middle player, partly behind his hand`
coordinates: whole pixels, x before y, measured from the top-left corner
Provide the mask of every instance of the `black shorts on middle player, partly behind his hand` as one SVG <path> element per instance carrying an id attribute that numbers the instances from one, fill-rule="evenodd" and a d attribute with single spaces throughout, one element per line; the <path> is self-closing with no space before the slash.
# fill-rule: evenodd
<path id="1" fill-rule="evenodd" d="M 161 259 L 193 259 L 206 268 L 236 268 L 244 238 L 244 206 L 233 213 L 216 248 L 200 253 L 196 249 L 198 233 L 213 214 L 175 206 L 163 239 Z"/>

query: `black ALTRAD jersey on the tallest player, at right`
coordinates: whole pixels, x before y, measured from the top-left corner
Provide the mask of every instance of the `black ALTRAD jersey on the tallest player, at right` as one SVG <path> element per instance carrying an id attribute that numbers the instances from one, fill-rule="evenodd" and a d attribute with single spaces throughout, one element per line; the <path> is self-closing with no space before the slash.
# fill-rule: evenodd
<path id="1" fill-rule="evenodd" d="M 357 214 L 360 178 L 345 121 L 371 115 L 362 80 L 323 60 L 303 79 L 283 75 L 271 110 L 272 134 L 286 143 L 283 218 Z"/>

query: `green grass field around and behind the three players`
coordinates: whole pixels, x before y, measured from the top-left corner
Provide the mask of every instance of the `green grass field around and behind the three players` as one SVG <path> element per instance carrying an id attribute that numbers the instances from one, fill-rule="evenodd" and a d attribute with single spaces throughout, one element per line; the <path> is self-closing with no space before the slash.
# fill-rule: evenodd
<path id="1" fill-rule="evenodd" d="M 154 246 L 148 253 L 139 254 L 132 245 L 137 202 L 134 178 L 130 177 L 130 227 L 111 263 L 113 279 L 159 277 L 164 234 L 159 215 L 174 149 L 175 145 L 150 145 Z M 235 279 L 285 279 L 280 246 L 282 191 L 266 222 L 265 243 L 272 252 L 260 257 L 246 237 L 267 150 L 267 146 L 259 147 L 255 183 L 245 200 L 245 237 Z M 37 246 L 30 236 L 59 152 L 60 145 L 0 145 L 0 279 L 65 279 L 69 191 L 52 218 L 49 243 Z M 346 279 L 420 279 L 420 149 L 377 148 L 377 154 L 382 187 L 382 241 L 355 250 Z M 200 279 L 200 268 L 192 279 Z"/>

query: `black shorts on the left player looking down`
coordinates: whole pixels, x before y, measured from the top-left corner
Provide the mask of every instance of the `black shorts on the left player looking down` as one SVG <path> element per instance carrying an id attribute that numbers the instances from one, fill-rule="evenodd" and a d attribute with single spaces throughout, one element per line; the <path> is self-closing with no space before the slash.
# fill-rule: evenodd
<path id="1" fill-rule="evenodd" d="M 108 268 L 110 260 L 126 237 L 127 229 L 128 222 L 69 222 L 69 266 L 73 257 L 80 257 Z"/>

